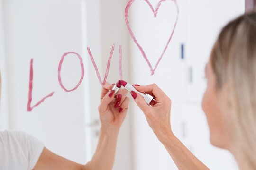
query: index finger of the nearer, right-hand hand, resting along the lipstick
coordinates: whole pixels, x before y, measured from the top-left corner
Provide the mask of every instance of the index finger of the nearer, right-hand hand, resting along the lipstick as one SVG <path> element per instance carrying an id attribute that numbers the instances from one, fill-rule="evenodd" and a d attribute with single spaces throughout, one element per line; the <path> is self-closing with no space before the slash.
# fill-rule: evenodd
<path id="1" fill-rule="evenodd" d="M 134 86 L 140 92 L 151 93 L 158 99 L 163 99 L 166 97 L 166 94 L 159 88 L 156 84 L 151 85 L 142 85 L 142 86 Z"/>

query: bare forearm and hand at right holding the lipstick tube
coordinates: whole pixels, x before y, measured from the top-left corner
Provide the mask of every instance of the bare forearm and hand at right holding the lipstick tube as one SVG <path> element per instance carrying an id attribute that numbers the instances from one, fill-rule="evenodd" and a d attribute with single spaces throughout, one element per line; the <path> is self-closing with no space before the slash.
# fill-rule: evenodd
<path id="1" fill-rule="evenodd" d="M 197 159 L 183 144 L 174 136 L 171 130 L 171 100 L 155 84 L 136 86 L 141 92 L 155 96 L 156 103 L 148 106 L 140 95 L 132 93 L 135 102 L 144 112 L 149 126 L 157 138 L 164 144 L 166 150 L 174 160 L 179 170 L 209 170 L 199 159 Z"/>

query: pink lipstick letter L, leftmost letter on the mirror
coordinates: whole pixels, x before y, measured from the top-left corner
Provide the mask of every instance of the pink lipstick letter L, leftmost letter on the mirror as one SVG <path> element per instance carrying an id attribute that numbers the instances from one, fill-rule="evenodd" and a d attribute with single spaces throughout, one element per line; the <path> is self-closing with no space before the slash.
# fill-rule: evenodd
<path id="1" fill-rule="evenodd" d="M 27 111 L 32 111 L 35 107 L 39 106 L 42 102 L 44 102 L 47 98 L 52 97 L 54 92 L 50 93 L 43 99 L 41 99 L 37 104 L 31 107 L 32 102 L 32 89 L 33 89 L 33 59 L 30 60 L 30 76 L 29 76 L 29 90 L 28 90 L 28 102 L 27 102 Z"/>

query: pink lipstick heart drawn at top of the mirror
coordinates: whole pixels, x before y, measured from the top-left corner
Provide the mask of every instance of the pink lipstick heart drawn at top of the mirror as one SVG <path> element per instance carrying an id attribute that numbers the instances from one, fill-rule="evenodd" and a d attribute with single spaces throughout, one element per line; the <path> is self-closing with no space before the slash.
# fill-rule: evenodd
<path id="1" fill-rule="evenodd" d="M 176 28 L 176 25 L 177 25 L 177 22 L 178 22 L 178 18 L 179 18 L 179 6 L 178 6 L 176 0 L 171 0 L 171 1 L 174 2 L 175 6 L 176 6 L 176 8 L 177 8 L 177 17 L 176 17 L 176 21 L 175 21 L 175 23 L 174 23 L 174 27 L 173 27 L 173 30 L 172 30 L 172 34 L 171 34 L 171 36 L 169 37 L 167 44 L 165 45 L 164 51 L 162 52 L 160 58 L 158 59 L 157 63 L 155 64 L 155 68 L 153 69 L 151 63 L 150 63 L 149 60 L 147 59 L 147 56 L 146 56 L 145 51 L 143 50 L 143 48 L 141 47 L 141 45 L 137 42 L 136 37 L 134 36 L 134 34 L 133 34 L 132 30 L 131 30 L 131 27 L 130 27 L 130 25 L 129 25 L 128 11 L 129 11 L 129 8 L 131 7 L 131 5 L 132 5 L 132 3 L 133 3 L 134 1 L 135 1 L 135 0 L 129 0 L 127 6 L 126 6 L 126 8 L 125 8 L 125 22 L 126 22 L 126 26 L 127 26 L 127 28 L 128 28 L 129 34 L 131 35 L 133 41 L 136 43 L 136 45 L 137 45 L 137 47 L 139 48 L 139 50 L 141 51 L 141 53 L 142 53 L 144 59 L 146 60 L 148 66 L 149 66 L 149 68 L 150 68 L 151 75 L 154 75 L 155 69 L 157 68 L 158 64 L 160 63 L 161 59 L 163 58 L 163 56 L 164 56 L 164 54 L 165 54 L 165 51 L 166 51 L 166 49 L 167 49 L 167 47 L 168 47 L 168 45 L 169 45 L 169 43 L 170 43 L 170 41 L 171 41 L 171 39 L 172 39 L 172 37 L 173 37 L 174 30 L 175 30 L 175 28 Z M 146 1 L 146 3 L 147 3 L 147 4 L 149 5 L 149 7 L 151 8 L 152 12 L 154 13 L 154 17 L 157 17 L 157 12 L 158 12 L 158 9 L 159 9 L 160 6 L 161 6 L 161 3 L 164 2 L 164 1 L 166 1 L 166 0 L 160 0 L 160 1 L 157 3 L 157 6 L 156 6 L 155 9 L 152 7 L 151 3 L 150 3 L 148 0 L 144 0 L 144 1 Z"/>

